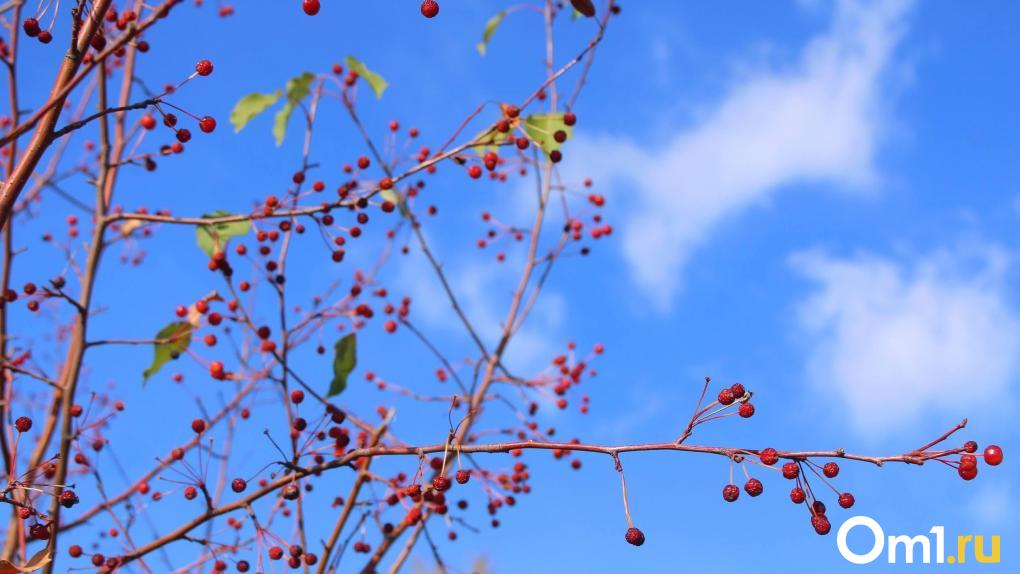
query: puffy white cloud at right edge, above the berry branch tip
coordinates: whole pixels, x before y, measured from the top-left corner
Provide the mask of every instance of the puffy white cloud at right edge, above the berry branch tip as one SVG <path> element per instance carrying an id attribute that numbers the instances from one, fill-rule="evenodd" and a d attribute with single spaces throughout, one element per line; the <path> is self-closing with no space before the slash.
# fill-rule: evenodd
<path id="1" fill-rule="evenodd" d="M 972 245 L 909 266 L 818 251 L 792 263 L 819 286 L 799 308 L 807 374 L 861 433 L 909 427 L 934 411 L 987 412 L 1006 397 L 1020 366 L 1020 317 L 1008 304 L 1001 249 Z"/>

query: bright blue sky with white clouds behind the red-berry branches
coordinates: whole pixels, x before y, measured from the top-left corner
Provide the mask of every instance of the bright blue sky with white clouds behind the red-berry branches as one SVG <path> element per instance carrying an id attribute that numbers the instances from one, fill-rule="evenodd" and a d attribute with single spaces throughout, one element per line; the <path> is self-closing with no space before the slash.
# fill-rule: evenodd
<path id="1" fill-rule="evenodd" d="M 118 203 L 198 214 L 243 211 L 254 198 L 282 193 L 300 161 L 296 123 L 277 149 L 268 118 L 235 135 L 226 115 L 242 95 L 271 91 L 305 69 L 324 71 L 347 54 L 391 84 L 379 101 L 362 95 L 369 129 L 381 135 L 396 118 L 418 126 L 422 143 L 434 147 L 478 103 L 519 101 L 543 77 L 542 27 L 532 14 L 508 17 L 484 58 L 474 51 L 502 2 L 444 0 L 434 20 L 410 1 L 323 0 L 314 18 L 291 3 L 239 3 L 226 19 L 189 6 L 174 14 L 175 24 L 150 35 L 143 75 L 154 86 L 184 76 L 199 58 L 215 62 L 212 76 L 172 101 L 221 118 L 221 127 L 196 137 L 180 158 L 161 161 L 158 176 L 125 175 Z M 566 341 L 582 349 L 606 346 L 595 365 L 598 377 L 583 387 L 591 413 L 550 413 L 550 424 L 561 436 L 597 443 L 671 439 L 693 409 L 700 380 L 711 375 L 753 389 L 758 413 L 699 430 L 698 443 L 898 454 L 969 417 L 966 437 L 998 442 L 1010 459 L 1018 443 L 1012 421 L 1020 379 L 1018 18 L 1020 6 L 1010 2 L 624 3 L 599 49 L 562 164 L 567 179 L 595 179 L 614 234 L 590 257 L 563 260 L 511 347 L 514 368 L 534 371 Z M 576 53 L 591 33 L 590 22 L 558 24 L 558 59 Z M 40 81 L 24 88 L 32 101 L 45 90 L 56 52 L 35 43 L 26 49 L 40 70 Z M 361 153 L 341 110 L 324 110 L 312 152 L 326 166 L 321 176 L 339 181 L 340 163 Z M 84 181 L 70 186 L 89 197 Z M 509 251 L 508 263 L 498 265 L 492 251 L 475 249 L 486 229 L 479 214 L 529 221 L 531 193 L 523 182 L 429 179 L 442 224 L 426 232 L 490 341 L 521 254 Z M 45 206 L 19 232 L 34 257 L 15 282 L 60 269 L 61 254 L 32 238 L 59 229 L 72 211 L 55 197 Z M 160 229 L 144 243 L 141 267 L 115 257 L 104 263 L 97 297 L 108 308 L 94 322 L 97 335 L 151 336 L 176 305 L 219 286 L 192 232 Z M 289 288 L 295 302 L 307 302 L 334 279 L 349 283 L 350 268 L 323 264 L 310 240 L 296 250 L 300 270 L 292 271 Z M 351 251 L 351 266 L 370 263 Z M 469 353 L 420 255 L 394 262 L 381 278 L 414 298 L 412 319 L 450 355 Z M 54 364 L 58 347 L 38 321 L 28 313 L 14 320 L 38 331 L 37 356 Z M 188 436 L 187 427 L 163 424 L 164 413 L 190 420 L 196 398 L 218 400 L 188 365 L 181 368 L 186 384 L 173 385 L 164 372 L 143 389 L 145 348 L 100 349 L 90 359 L 89 387 L 115 383 L 129 404 L 109 433 L 129 475 Z M 310 353 L 300 359 L 305 378 L 325 385 L 328 363 Z M 387 336 L 372 325 L 359 361 L 358 374 L 371 369 L 405 386 L 435 385 L 434 361 L 404 331 Z M 345 401 L 368 414 L 393 399 L 355 377 Z M 443 409 L 396 404 L 402 437 L 443 439 Z M 275 414 L 257 410 L 252 428 L 278 426 Z M 238 474 L 273 457 L 258 432 L 249 434 L 235 447 L 242 455 L 232 469 Z M 542 453 L 525 456 L 533 492 L 501 513 L 498 530 L 484 526 L 480 512 L 469 513 L 465 519 L 480 532 L 461 529 L 456 542 L 441 542 L 447 561 L 466 568 L 484 556 L 493 572 L 857 569 L 839 556 L 834 535 L 811 530 L 804 509 L 786 499 L 784 481 L 763 477 L 763 497 L 727 505 L 719 495 L 724 463 L 675 454 L 623 458 L 631 512 L 648 537 L 631 547 L 622 540 L 618 478 L 603 458 L 583 458 L 583 470 L 575 472 Z M 413 470 L 409 461 L 387 465 Z M 837 480 L 858 502 L 853 513 L 831 511 L 834 526 L 864 514 L 889 534 L 923 533 L 936 524 L 951 537 L 999 534 L 1002 565 L 954 570 L 1014 569 L 1012 540 L 1020 531 L 1010 509 L 1020 476 L 1012 461 L 982 468 L 971 483 L 936 464 L 846 464 Z M 348 481 L 338 473 L 317 488 L 346 491 Z M 475 509 L 483 504 L 478 492 L 469 498 Z M 154 520 L 199 510 L 181 507 L 154 509 Z M 324 531 L 330 516 L 322 509 L 311 520 Z M 147 539 L 145 528 L 137 537 Z M 432 532 L 442 537 L 444 530 Z M 168 552 L 184 564 L 195 549 Z M 430 571 L 427 547 L 411 562 Z"/>

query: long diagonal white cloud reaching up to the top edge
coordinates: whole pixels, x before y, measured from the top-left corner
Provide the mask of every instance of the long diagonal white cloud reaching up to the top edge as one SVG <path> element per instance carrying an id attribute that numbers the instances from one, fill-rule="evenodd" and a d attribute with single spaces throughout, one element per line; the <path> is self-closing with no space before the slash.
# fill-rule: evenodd
<path id="1" fill-rule="evenodd" d="M 633 184 L 624 255 L 667 307 L 680 271 L 727 217 L 799 181 L 862 188 L 875 178 L 882 89 L 908 0 L 838 2 L 830 29 L 787 69 L 742 74 L 692 127 L 661 146 L 596 138 L 571 149 L 597 180 Z"/>

